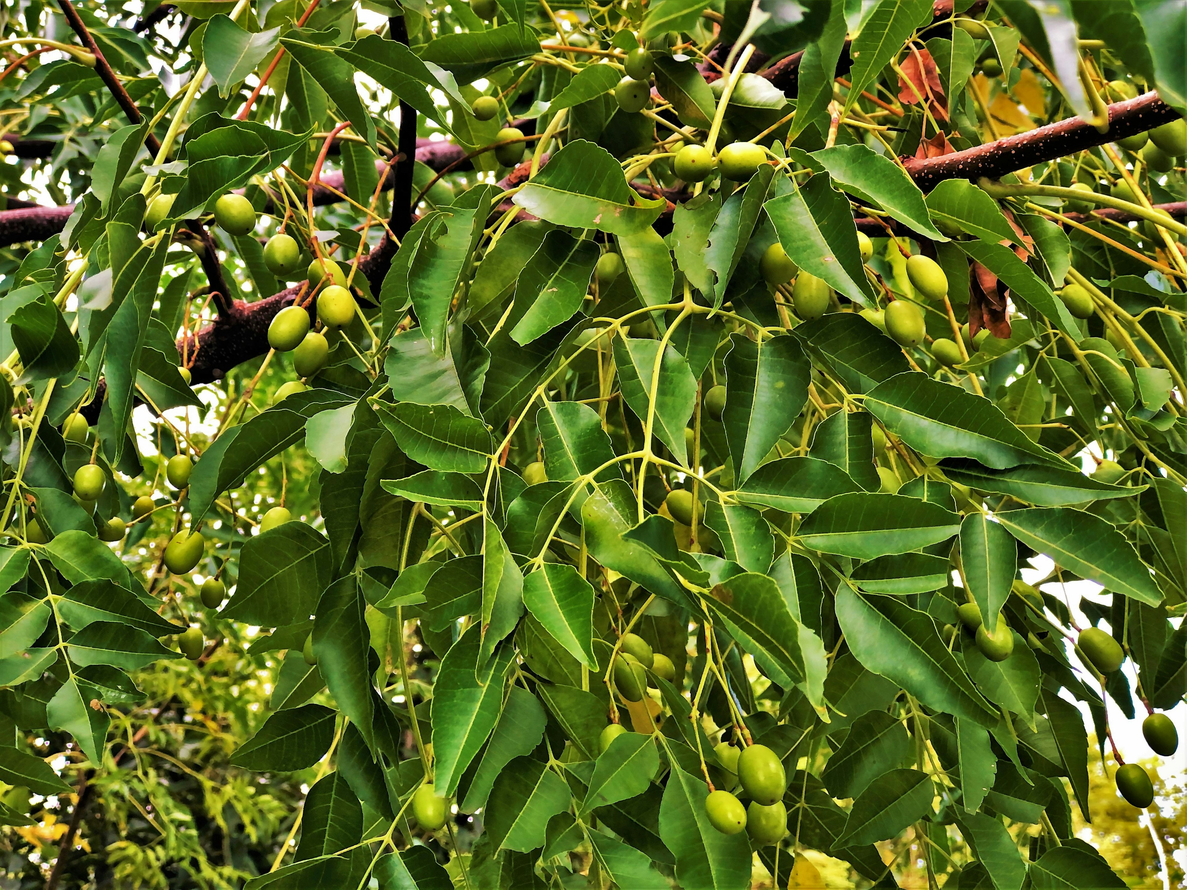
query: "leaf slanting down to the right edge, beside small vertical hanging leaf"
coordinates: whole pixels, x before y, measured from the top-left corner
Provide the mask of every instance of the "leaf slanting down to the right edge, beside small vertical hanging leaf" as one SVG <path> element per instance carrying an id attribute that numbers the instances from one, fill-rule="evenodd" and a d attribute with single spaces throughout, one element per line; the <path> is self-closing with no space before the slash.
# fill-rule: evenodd
<path id="1" fill-rule="evenodd" d="M 1147 605 L 1162 602 L 1150 570 L 1125 536 L 1099 516 L 1069 507 L 1034 507 L 997 517 L 1024 545 L 1081 578 Z"/>

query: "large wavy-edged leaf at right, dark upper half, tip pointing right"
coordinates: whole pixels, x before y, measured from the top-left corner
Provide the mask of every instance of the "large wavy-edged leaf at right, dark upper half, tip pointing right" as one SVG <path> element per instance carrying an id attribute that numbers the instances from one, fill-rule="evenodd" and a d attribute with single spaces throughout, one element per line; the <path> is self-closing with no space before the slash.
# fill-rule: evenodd
<path id="1" fill-rule="evenodd" d="M 970 457 L 995 470 L 1035 462 L 1068 466 L 1030 441 L 988 399 L 926 374 L 891 377 L 870 390 L 864 405 L 887 430 L 929 457 Z"/>

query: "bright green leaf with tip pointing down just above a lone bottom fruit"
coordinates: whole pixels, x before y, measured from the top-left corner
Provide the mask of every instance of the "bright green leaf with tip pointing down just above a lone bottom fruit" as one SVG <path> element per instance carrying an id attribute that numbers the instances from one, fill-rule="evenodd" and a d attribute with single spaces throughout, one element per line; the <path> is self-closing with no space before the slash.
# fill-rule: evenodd
<path id="1" fill-rule="evenodd" d="M 477 669 L 480 634 L 466 630 L 445 653 L 433 689 L 432 721 L 438 794 L 452 795 L 499 721 L 503 679 L 514 648 L 503 646 Z M 542 828 L 541 828 L 542 831 Z"/>

